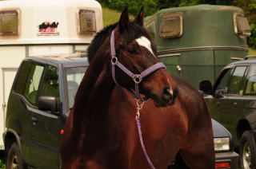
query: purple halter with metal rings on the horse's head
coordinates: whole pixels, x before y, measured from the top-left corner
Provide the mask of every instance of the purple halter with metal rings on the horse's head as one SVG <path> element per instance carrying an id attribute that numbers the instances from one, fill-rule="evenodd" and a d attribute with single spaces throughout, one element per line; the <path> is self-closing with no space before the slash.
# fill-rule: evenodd
<path id="1" fill-rule="evenodd" d="M 139 83 L 142 81 L 143 77 L 146 77 L 147 75 L 149 75 L 150 73 L 153 73 L 155 70 L 160 69 L 160 68 L 166 68 L 165 65 L 163 65 L 163 63 L 158 62 L 152 66 L 150 66 L 148 69 L 144 70 L 142 73 L 140 74 L 134 74 L 132 72 L 130 72 L 129 69 L 126 69 L 126 67 L 124 65 L 122 65 L 122 63 L 120 63 L 118 61 L 118 58 L 116 57 L 116 53 L 115 53 L 115 47 L 114 47 L 114 30 L 111 33 L 111 37 L 110 37 L 110 47 L 111 47 L 111 64 L 112 64 L 112 77 L 114 80 L 114 83 L 118 85 L 116 79 L 115 79 L 115 71 L 114 71 L 114 66 L 117 65 L 120 69 L 122 69 L 122 71 L 124 73 L 126 73 L 129 77 L 131 77 L 134 80 L 134 84 L 135 84 L 135 92 L 133 89 L 130 88 L 130 92 L 131 94 L 134 96 L 134 98 L 136 100 L 142 100 L 145 101 L 148 98 L 145 96 L 144 98 L 141 98 L 140 94 L 139 94 Z"/>

